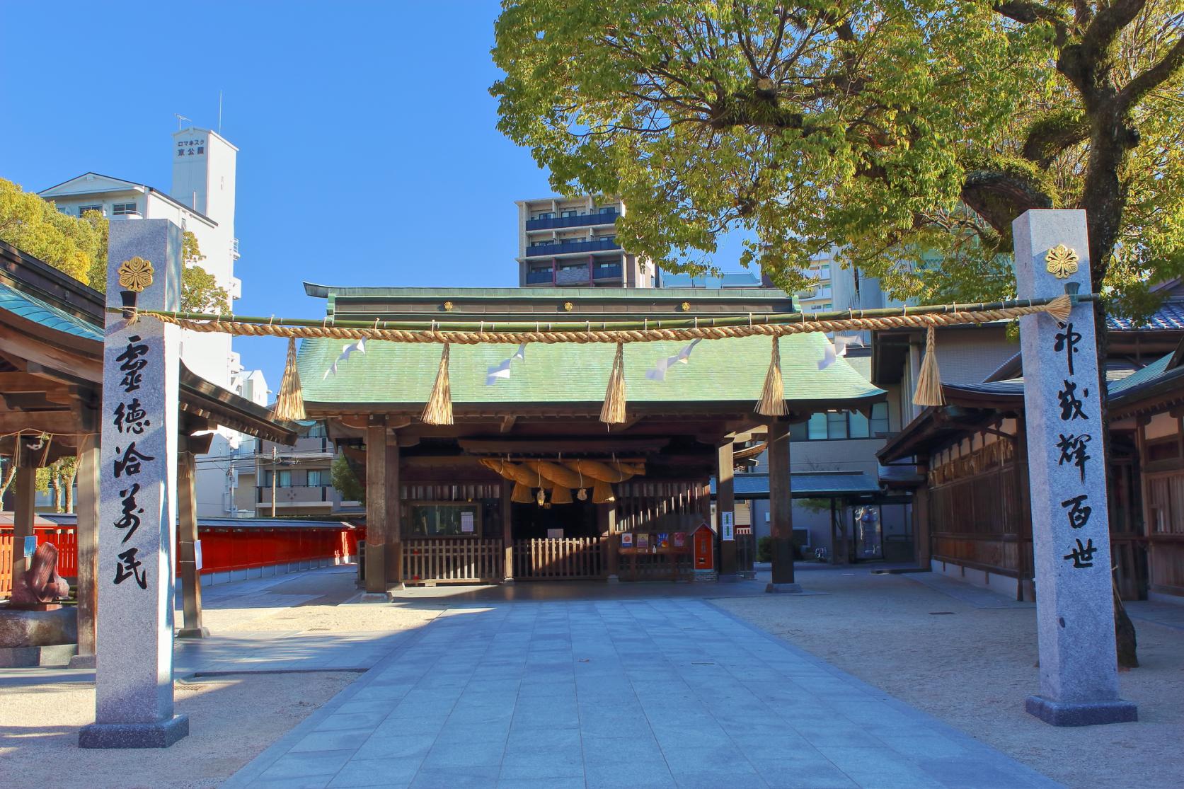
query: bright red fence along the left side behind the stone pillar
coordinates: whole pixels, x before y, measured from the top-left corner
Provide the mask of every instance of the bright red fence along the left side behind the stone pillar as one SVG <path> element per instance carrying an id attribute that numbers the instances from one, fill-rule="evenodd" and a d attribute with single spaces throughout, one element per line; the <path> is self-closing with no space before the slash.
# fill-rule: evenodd
<path id="1" fill-rule="evenodd" d="M 58 547 L 58 575 L 78 575 L 77 533 L 73 526 L 34 526 L 37 544 L 53 543 Z M 358 556 L 359 532 L 348 526 L 302 527 L 200 527 L 201 573 L 264 567 L 272 564 L 320 559 L 345 560 Z M 0 528 L 0 597 L 12 594 L 12 528 Z M 22 550 L 19 546 L 18 550 Z M 180 552 L 178 572 L 180 572 Z"/>

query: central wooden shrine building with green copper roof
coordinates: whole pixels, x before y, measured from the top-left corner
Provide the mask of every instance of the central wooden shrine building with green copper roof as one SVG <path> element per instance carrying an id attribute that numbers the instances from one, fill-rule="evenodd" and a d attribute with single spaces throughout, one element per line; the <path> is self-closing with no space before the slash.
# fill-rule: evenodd
<path id="1" fill-rule="evenodd" d="M 776 289 L 336 288 L 305 283 L 334 321 L 498 325 L 713 319 L 793 312 Z M 507 326 L 508 328 L 508 326 Z M 614 346 L 605 342 L 450 346 L 451 424 L 424 406 L 438 344 L 304 339 L 298 372 L 308 418 L 366 487 L 366 585 L 552 578 L 693 578 L 736 572 L 731 540 L 733 442 L 768 428 L 773 582 L 792 583 L 792 422 L 884 398 L 842 358 L 819 368 L 821 333 L 779 340 L 789 413 L 754 412 L 770 367 L 767 336 L 624 345 L 626 418 L 600 421 Z M 719 480 L 714 534 L 710 479 Z M 710 556 L 693 553 L 700 540 Z M 722 538 L 722 539 L 721 539 Z M 696 572 L 697 571 L 697 572 Z"/>

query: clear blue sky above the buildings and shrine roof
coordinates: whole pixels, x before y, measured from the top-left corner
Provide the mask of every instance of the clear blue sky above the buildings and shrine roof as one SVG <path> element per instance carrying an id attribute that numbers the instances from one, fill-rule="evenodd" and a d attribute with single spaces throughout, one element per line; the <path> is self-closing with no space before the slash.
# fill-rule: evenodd
<path id="1" fill-rule="evenodd" d="M 239 148 L 236 312 L 320 316 L 305 280 L 515 286 L 514 200 L 551 188 L 496 128 L 497 13 L 489 0 L 0 0 L 0 177 L 39 191 L 94 171 L 167 191 L 174 113 L 217 129 L 221 90 Z M 278 386 L 282 340 L 236 349 Z"/>

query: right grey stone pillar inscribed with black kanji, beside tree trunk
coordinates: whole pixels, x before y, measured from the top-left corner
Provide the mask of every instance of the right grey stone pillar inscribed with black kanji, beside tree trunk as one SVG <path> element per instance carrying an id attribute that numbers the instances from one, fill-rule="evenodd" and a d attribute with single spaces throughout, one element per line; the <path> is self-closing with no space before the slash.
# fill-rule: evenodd
<path id="1" fill-rule="evenodd" d="M 1090 293 L 1085 211 L 1028 211 L 1012 231 L 1021 299 Z M 1094 306 L 1025 315 L 1019 338 L 1040 642 L 1027 708 L 1057 726 L 1135 720 L 1119 698 Z"/>

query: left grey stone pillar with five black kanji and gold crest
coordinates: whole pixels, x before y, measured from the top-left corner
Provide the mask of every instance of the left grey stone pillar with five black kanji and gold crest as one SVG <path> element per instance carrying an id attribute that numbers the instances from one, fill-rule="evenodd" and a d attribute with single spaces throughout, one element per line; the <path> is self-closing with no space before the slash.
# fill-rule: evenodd
<path id="1" fill-rule="evenodd" d="M 167 748 L 189 730 L 173 712 L 180 329 L 134 310 L 179 308 L 181 229 L 112 222 L 108 261 L 95 723 L 78 744 Z"/>

